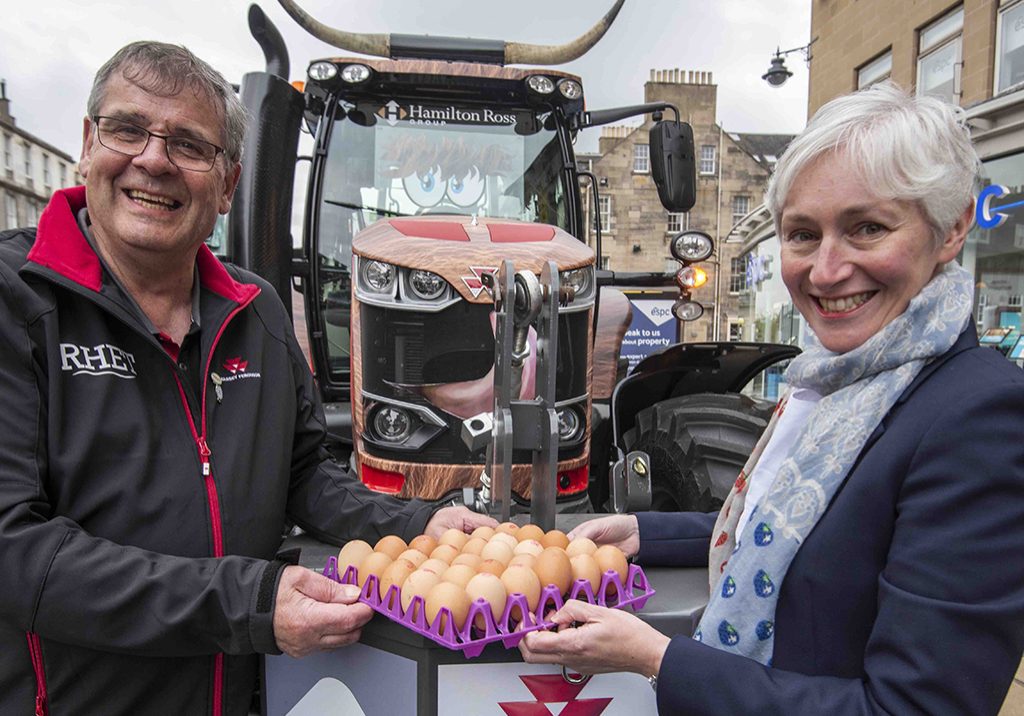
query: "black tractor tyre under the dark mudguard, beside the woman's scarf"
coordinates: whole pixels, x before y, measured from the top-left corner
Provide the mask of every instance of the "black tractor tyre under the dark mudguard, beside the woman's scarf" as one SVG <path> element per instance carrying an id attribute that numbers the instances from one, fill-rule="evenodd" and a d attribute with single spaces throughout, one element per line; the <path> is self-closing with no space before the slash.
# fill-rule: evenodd
<path id="1" fill-rule="evenodd" d="M 738 393 L 696 393 L 640 411 L 623 444 L 650 457 L 651 509 L 719 509 L 772 409 Z"/>

